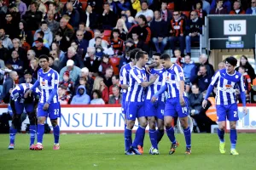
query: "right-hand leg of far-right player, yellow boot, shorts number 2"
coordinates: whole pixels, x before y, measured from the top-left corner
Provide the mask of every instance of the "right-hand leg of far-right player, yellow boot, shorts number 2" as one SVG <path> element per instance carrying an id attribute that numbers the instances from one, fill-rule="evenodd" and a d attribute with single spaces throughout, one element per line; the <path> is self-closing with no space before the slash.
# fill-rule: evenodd
<path id="1" fill-rule="evenodd" d="M 232 104 L 229 105 L 229 111 L 227 113 L 227 118 L 230 121 L 230 143 L 231 143 L 231 149 L 230 154 L 231 155 L 239 155 L 239 153 L 236 151 L 236 140 L 237 140 L 237 133 L 236 133 L 236 122 L 238 121 L 238 111 L 237 111 L 237 105 Z"/>

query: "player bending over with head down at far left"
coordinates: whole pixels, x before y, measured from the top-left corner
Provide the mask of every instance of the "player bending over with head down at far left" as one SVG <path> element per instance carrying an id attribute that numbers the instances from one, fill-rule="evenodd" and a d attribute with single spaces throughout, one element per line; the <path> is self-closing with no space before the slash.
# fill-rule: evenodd
<path id="1" fill-rule="evenodd" d="M 38 88 L 34 88 L 32 95 L 28 98 L 24 98 L 26 91 L 32 87 L 30 83 L 21 83 L 16 86 L 10 94 L 10 105 L 13 112 L 12 125 L 9 128 L 9 150 L 15 149 L 15 134 L 17 128 L 20 127 L 20 116 L 24 109 L 29 118 L 29 131 L 30 131 L 30 150 L 34 150 L 35 135 L 37 133 L 37 116 L 35 108 L 38 106 L 38 99 L 40 98 L 41 92 Z"/>

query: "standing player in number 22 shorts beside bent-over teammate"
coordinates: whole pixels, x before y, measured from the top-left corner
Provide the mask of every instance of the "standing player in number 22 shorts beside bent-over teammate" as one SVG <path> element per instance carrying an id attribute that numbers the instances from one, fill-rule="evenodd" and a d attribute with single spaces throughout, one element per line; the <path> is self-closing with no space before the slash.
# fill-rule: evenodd
<path id="1" fill-rule="evenodd" d="M 41 66 L 41 69 L 38 71 L 38 80 L 25 94 L 25 97 L 30 95 L 32 90 L 38 86 L 42 89 L 41 99 L 38 104 L 38 144 L 36 145 L 35 150 L 44 149 L 42 143 L 44 136 L 44 122 L 47 116 L 49 116 L 54 131 L 55 143 L 53 149 L 59 150 L 60 127 L 58 126 L 58 117 L 61 115 L 61 107 L 57 94 L 59 74 L 49 67 L 49 58 L 47 55 L 41 55 L 39 57 L 39 65 Z"/>

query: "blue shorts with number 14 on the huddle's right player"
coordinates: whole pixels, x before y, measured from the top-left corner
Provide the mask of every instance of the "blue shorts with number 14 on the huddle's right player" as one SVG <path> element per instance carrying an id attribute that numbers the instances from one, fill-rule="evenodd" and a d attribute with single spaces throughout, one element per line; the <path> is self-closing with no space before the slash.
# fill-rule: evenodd
<path id="1" fill-rule="evenodd" d="M 189 116 L 189 100 L 184 97 L 185 106 L 181 106 L 179 103 L 179 98 L 172 98 L 166 100 L 165 115 L 172 117 L 186 117 Z"/>

